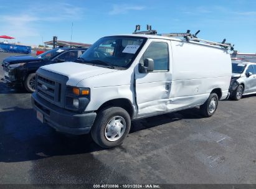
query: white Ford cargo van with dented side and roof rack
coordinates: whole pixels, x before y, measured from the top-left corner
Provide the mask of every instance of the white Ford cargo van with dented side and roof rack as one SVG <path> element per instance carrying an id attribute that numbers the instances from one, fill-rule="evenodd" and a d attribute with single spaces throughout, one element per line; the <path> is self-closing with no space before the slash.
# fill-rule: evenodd
<path id="1" fill-rule="evenodd" d="M 158 35 L 99 39 L 75 62 L 40 67 L 32 94 L 37 118 L 98 145 L 121 144 L 131 120 L 199 106 L 216 112 L 229 95 L 227 48 Z"/>

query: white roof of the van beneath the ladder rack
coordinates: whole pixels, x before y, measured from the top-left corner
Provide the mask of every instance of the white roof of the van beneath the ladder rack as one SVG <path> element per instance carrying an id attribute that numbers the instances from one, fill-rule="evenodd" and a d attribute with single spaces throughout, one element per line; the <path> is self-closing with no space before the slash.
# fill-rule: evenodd
<path id="1" fill-rule="evenodd" d="M 114 36 L 145 37 L 148 39 L 165 39 L 165 40 L 175 40 L 175 41 L 179 41 L 179 42 L 187 42 L 186 40 L 179 39 L 178 37 L 166 37 L 166 36 L 161 36 L 161 35 L 150 35 L 150 34 L 118 34 L 118 35 L 109 35 L 106 37 L 114 37 Z M 211 45 L 211 44 L 207 44 L 207 43 L 202 43 L 202 42 L 196 42 L 194 40 L 189 40 L 189 43 L 205 45 L 207 47 L 214 47 L 214 48 L 219 48 L 222 50 L 225 49 L 224 47 L 220 47 L 217 45 Z M 227 50 L 227 49 L 225 49 L 225 50 Z"/>

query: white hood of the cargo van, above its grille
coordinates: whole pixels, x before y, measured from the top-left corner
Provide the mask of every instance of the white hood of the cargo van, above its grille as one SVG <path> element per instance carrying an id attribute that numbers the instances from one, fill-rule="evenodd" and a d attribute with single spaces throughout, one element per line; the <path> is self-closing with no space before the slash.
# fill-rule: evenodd
<path id="1" fill-rule="evenodd" d="M 77 62 L 54 63 L 40 68 L 69 77 L 68 83 L 70 85 L 77 85 L 79 81 L 92 76 L 118 71 L 115 69 L 92 66 Z"/>

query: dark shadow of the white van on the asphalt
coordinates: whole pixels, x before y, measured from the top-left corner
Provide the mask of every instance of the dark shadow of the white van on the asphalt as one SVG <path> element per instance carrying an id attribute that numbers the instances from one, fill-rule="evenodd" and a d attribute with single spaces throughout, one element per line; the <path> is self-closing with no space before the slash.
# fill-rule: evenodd
<path id="1" fill-rule="evenodd" d="M 133 121 L 131 133 L 180 119 L 200 118 L 197 108 L 163 114 Z M 2 109 L 0 120 L 0 162 L 22 162 L 102 150 L 93 142 L 90 134 L 70 136 L 41 124 L 33 109 Z"/>

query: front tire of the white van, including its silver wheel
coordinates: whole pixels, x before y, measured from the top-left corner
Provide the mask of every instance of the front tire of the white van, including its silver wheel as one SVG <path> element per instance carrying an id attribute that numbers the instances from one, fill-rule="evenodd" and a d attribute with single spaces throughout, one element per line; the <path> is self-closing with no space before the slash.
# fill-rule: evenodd
<path id="1" fill-rule="evenodd" d="M 121 127 L 123 126 L 123 127 Z M 131 118 L 127 111 L 120 107 L 108 107 L 98 114 L 91 135 L 93 141 L 104 149 L 120 145 L 131 128 Z M 120 134 L 117 134 L 120 131 Z M 115 136 L 115 134 L 117 134 Z M 111 136 L 115 136 L 111 139 Z"/>

